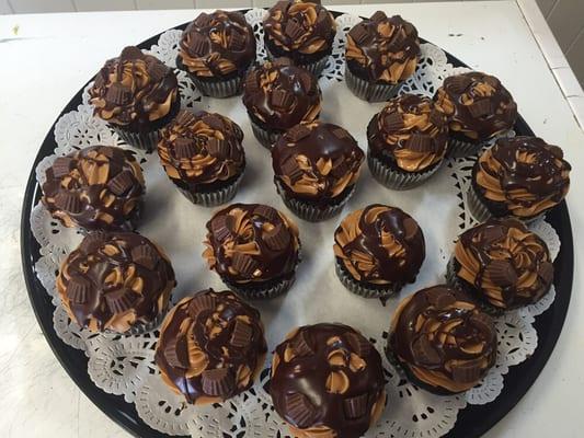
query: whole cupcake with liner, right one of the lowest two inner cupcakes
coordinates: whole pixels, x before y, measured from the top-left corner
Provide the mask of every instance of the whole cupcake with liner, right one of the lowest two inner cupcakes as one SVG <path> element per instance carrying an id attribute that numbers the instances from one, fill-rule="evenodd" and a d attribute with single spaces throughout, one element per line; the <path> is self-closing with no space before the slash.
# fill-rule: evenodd
<path id="1" fill-rule="evenodd" d="M 334 232 L 336 274 L 350 291 L 382 298 L 413 283 L 426 255 L 417 222 L 397 207 L 374 204 Z"/>

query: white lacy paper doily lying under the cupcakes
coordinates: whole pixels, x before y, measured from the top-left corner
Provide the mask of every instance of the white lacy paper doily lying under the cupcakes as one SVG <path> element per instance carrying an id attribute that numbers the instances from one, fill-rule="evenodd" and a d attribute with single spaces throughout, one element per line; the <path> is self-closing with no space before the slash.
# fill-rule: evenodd
<path id="1" fill-rule="evenodd" d="M 252 9 L 247 13 L 257 36 L 260 59 L 265 59 L 261 20 L 265 11 Z M 332 56 L 324 69 L 320 85 L 323 91 L 321 118 L 348 129 L 359 145 L 366 148 L 365 127 L 382 104 L 370 104 L 354 97 L 342 82 L 344 72 L 343 47 L 346 32 L 359 21 L 343 14 L 336 19 L 339 31 Z M 149 53 L 170 67 L 175 67 L 180 31 L 163 33 Z M 468 69 L 454 68 L 445 53 L 432 44 L 422 45 L 420 67 L 402 88 L 402 92 L 433 95 L 444 78 Z M 253 137 L 241 97 L 214 100 L 202 96 L 188 80 L 178 71 L 182 106 L 207 110 L 236 120 L 243 129 L 248 168 L 236 201 L 264 203 L 288 212 L 272 181 L 270 158 Z M 89 87 L 89 85 L 88 85 Z M 62 115 L 55 126 L 55 154 L 45 158 L 36 169 L 38 181 L 56 155 L 90 145 L 117 145 L 127 148 L 106 125 L 92 116 L 85 88 L 82 103 L 76 111 Z M 173 301 L 194 291 L 214 287 L 224 289 L 218 277 L 210 273 L 201 257 L 205 229 L 203 224 L 213 210 L 190 204 L 165 176 L 157 154 L 136 152 L 147 181 L 146 210 L 139 231 L 159 242 L 169 254 L 178 278 Z M 294 326 L 323 321 L 336 321 L 360 330 L 381 351 L 387 337 L 390 315 L 405 296 L 423 287 L 444 283 L 444 273 L 451 254 L 455 238 L 474 224 L 466 207 L 472 160 L 449 160 L 430 184 L 409 192 L 392 192 L 376 183 L 366 166 L 354 197 L 344 214 L 371 203 L 396 205 L 411 214 L 421 224 L 426 239 L 426 260 L 416 283 L 406 286 L 387 302 L 367 300 L 350 293 L 334 274 L 332 235 L 341 217 L 324 223 L 308 223 L 296 219 L 300 228 L 305 261 L 299 266 L 297 281 L 284 297 L 256 301 L 266 325 L 268 345 L 274 348 Z M 294 216 L 290 214 L 290 217 Z M 88 373 L 104 391 L 124 396 L 135 403 L 138 415 L 152 428 L 169 435 L 193 437 L 241 438 L 286 437 L 287 429 L 274 413 L 270 395 L 264 390 L 270 366 L 260 381 L 247 393 L 224 404 L 195 407 L 164 385 L 153 364 L 153 348 L 158 331 L 140 336 L 123 337 L 92 334 L 72 323 L 55 292 L 55 276 L 64 256 L 80 242 L 81 235 L 50 218 L 42 205 L 31 215 L 32 231 L 41 244 L 41 258 L 35 270 L 56 306 L 54 323 L 57 335 L 89 358 Z M 553 228 L 543 220 L 530 224 L 548 244 L 553 258 L 560 250 L 560 240 Z M 485 404 L 501 393 L 503 376 L 508 368 L 524 361 L 537 347 L 535 318 L 553 302 L 552 290 L 537 304 L 506 313 L 496 321 L 500 339 L 496 366 L 483 382 L 463 394 L 437 396 L 410 383 L 400 371 L 385 360 L 388 380 L 389 407 L 367 437 L 427 437 L 443 436 L 450 430 L 458 412 L 467 404 Z M 310 306 L 306 303 L 310 302 Z M 367 318 L 363 318 L 363 315 Z M 279 434 L 279 435 L 278 435 Z"/>

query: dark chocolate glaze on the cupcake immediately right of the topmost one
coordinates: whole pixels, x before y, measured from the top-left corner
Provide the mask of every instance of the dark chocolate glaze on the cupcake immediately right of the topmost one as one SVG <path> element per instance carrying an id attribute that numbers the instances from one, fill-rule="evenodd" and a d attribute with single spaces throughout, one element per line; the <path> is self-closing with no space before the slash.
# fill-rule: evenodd
<path id="1" fill-rule="evenodd" d="M 386 30 L 391 28 L 390 33 Z M 404 65 L 416 60 L 420 55 L 420 41 L 414 25 L 400 15 L 387 16 L 377 11 L 370 19 L 356 24 L 347 35 L 350 44 L 363 57 L 360 60 L 347 53 L 347 67 L 351 71 L 373 82 L 393 82 L 382 80 L 383 72 L 393 64 Z"/>

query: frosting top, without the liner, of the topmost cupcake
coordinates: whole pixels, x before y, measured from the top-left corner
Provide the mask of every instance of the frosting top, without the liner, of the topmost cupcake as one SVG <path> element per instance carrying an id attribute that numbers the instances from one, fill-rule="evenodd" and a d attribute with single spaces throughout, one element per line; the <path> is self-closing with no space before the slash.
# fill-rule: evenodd
<path id="1" fill-rule="evenodd" d="M 297 53 L 313 55 L 330 50 L 336 32 L 332 14 L 320 2 L 278 1 L 263 22 L 265 38 L 298 61 Z"/>

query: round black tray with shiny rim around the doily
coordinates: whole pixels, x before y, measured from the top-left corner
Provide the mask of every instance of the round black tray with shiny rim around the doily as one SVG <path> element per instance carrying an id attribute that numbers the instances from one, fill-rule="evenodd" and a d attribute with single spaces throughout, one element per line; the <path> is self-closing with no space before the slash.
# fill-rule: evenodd
<path id="1" fill-rule="evenodd" d="M 333 14 L 339 15 L 340 13 L 333 12 Z M 186 24 L 174 28 L 184 30 Z M 160 34 L 154 35 L 139 44 L 138 47 L 150 48 L 150 46 L 158 42 L 159 37 Z M 468 67 L 450 54 L 447 53 L 446 56 L 448 62 L 455 67 Z M 95 69 L 98 69 L 98 66 Z M 77 106 L 82 102 L 81 95 L 83 88 L 71 99 L 59 117 L 65 113 L 77 110 Z M 141 438 L 165 438 L 168 435 L 150 428 L 140 419 L 134 404 L 126 403 L 121 395 L 108 394 L 99 389 L 88 376 L 88 358 L 83 351 L 68 346 L 55 333 L 53 325 L 55 307 L 35 274 L 34 265 L 39 257 L 39 245 L 31 231 L 30 223 L 31 211 L 42 195 L 41 187 L 36 181 L 35 169 L 43 158 L 54 153 L 57 146 L 54 129 L 55 125 L 53 125 L 45 137 L 33 163 L 22 208 L 21 252 L 28 298 L 53 353 L 55 353 L 59 362 L 81 391 L 110 418 L 131 435 Z M 534 135 L 522 117 L 515 124 L 515 131 L 517 135 Z M 558 342 L 568 312 L 568 306 L 570 304 L 574 265 L 572 230 L 565 201 L 562 201 L 552 211 L 548 212 L 547 220 L 558 232 L 562 245 L 560 254 L 554 262 L 556 300 L 543 314 L 536 318 L 536 322 L 534 323 L 538 334 L 538 347 L 529 359 L 509 368 L 508 373 L 504 377 L 505 385 L 503 391 L 494 402 L 485 405 L 468 405 L 461 410 L 455 427 L 445 437 L 479 437 L 493 427 L 517 404 L 531 384 L 534 384 Z"/>

